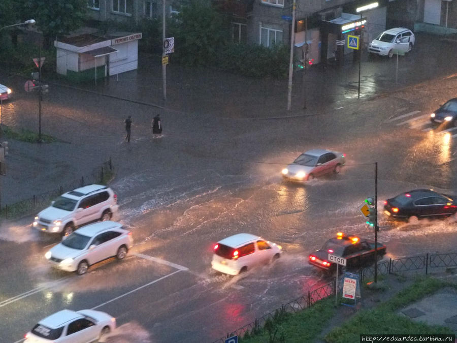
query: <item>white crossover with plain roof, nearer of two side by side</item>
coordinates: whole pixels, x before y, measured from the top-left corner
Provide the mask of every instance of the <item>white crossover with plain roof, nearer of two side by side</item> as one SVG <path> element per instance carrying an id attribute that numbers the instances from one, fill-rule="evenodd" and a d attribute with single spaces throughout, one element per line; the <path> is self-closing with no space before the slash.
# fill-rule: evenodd
<path id="1" fill-rule="evenodd" d="M 89 266 L 116 257 L 122 260 L 133 246 L 132 232 L 106 221 L 83 226 L 54 245 L 45 257 L 54 268 L 87 272 Z"/>

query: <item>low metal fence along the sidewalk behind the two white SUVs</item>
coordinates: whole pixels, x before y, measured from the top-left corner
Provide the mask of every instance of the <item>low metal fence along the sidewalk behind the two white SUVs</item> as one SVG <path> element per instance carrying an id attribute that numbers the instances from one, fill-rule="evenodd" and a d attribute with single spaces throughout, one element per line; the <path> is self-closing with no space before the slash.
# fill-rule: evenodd
<path id="1" fill-rule="evenodd" d="M 113 173 L 113 164 L 111 157 L 108 161 L 104 162 L 100 168 L 94 170 L 92 174 L 81 176 L 81 178 L 60 185 L 57 189 L 34 195 L 31 198 L 0 206 L 0 217 L 6 219 L 18 217 L 20 215 L 30 214 L 36 212 L 38 209 L 49 206 L 52 199 L 62 195 L 65 192 L 74 190 L 75 188 L 82 187 L 93 183 L 106 183 L 107 177 Z"/>

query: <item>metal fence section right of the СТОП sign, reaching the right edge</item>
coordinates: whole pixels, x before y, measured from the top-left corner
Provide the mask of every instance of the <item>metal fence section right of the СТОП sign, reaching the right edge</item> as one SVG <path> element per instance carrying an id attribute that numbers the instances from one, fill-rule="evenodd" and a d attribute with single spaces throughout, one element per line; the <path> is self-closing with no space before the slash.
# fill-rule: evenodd
<path id="1" fill-rule="evenodd" d="M 378 274 L 387 275 L 410 271 L 423 271 L 425 274 L 429 274 L 432 268 L 447 267 L 457 267 L 457 253 L 435 253 L 389 259 L 388 261 L 378 263 Z M 364 268 L 360 271 L 361 281 L 366 278 L 372 278 L 373 276 L 374 266 Z"/>

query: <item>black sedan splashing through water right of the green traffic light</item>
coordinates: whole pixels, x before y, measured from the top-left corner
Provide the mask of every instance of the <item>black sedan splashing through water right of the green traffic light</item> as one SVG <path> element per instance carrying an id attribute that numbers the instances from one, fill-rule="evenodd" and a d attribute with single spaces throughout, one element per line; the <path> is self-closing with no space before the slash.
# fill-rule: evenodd
<path id="1" fill-rule="evenodd" d="M 434 190 L 409 191 L 384 201 L 384 214 L 395 219 L 443 218 L 455 212 L 454 200 Z"/>

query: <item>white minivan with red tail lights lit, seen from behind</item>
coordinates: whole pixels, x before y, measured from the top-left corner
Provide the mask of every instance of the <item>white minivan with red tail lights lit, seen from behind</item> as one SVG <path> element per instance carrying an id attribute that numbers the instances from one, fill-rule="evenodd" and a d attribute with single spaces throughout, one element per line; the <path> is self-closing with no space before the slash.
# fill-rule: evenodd
<path id="1" fill-rule="evenodd" d="M 237 275 L 252 267 L 277 260 L 281 245 L 249 233 L 239 233 L 214 245 L 211 267 L 224 274 Z"/>

